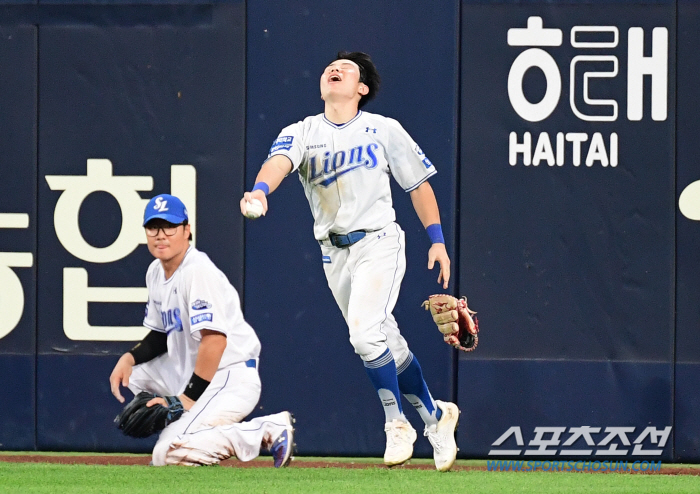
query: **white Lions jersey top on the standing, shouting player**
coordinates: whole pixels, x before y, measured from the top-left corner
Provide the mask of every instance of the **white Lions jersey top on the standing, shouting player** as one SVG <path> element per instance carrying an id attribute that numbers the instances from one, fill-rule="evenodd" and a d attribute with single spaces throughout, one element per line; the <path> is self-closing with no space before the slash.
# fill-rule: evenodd
<path id="1" fill-rule="evenodd" d="M 363 111 L 342 125 L 321 113 L 285 127 L 268 159 L 280 154 L 299 172 L 318 240 L 385 227 L 396 219 L 389 176 L 410 192 L 436 173 L 401 124 Z"/>

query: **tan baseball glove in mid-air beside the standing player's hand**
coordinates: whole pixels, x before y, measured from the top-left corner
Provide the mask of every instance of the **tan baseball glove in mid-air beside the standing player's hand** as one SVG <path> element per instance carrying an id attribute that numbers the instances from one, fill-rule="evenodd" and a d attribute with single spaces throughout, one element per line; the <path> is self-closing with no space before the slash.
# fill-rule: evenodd
<path id="1" fill-rule="evenodd" d="M 445 343 L 463 352 L 471 352 L 476 348 L 479 343 L 479 320 L 472 318 L 476 312 L 467 306 L 467 297 L 431 295 L 422 307 L 430 310 Z"/>

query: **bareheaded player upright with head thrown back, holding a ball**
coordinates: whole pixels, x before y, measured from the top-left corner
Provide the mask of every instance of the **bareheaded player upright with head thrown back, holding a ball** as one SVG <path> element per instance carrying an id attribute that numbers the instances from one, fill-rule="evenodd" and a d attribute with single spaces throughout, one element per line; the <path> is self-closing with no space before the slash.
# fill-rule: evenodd
<path id="1" fill-rule="evenodd" d="M 250 216 L 257 200 L 265 214 L 266 196 L 286 175 L 299 172 L 328 285 L 384 408 L 384 463 L 398 465 L 413 454 L 416 431 L 404 416 L 402 393 L 425 422 L 435 466 L 446 471 L 457 456 L 459 410 L 454 403 L 433 400 L 392 316 L 406 260 L 404 232 L 394 221 L 390 175 L 410 193 L 432 241 L 428 268 L 439 263 L 438 283 L 444 288 L 450 279 L 440 213 L 427 181 L 436 171 L 396 120 L 361 111 L 379 82 L 367 54 L 339 53 L 321 75 L 324 112 L 282 130 L 253 190 L 241 199 L 241 212 Z"/>

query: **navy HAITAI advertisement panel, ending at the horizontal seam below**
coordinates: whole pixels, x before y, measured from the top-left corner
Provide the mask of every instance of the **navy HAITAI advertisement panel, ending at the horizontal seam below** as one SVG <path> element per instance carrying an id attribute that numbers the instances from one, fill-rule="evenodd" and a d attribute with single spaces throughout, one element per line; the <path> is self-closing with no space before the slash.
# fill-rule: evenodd
<path id="1" fill-rule="evenodd" d="M 497 331 L 481 357 L 670 359 L 673 5 L 463 6 L 460 284 Z"/>

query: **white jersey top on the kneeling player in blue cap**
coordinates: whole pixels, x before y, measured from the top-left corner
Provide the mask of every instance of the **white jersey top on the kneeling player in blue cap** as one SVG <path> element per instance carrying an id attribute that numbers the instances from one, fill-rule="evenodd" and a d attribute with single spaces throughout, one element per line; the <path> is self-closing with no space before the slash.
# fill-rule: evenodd
<path id="1" fill-rule="evenodd" d="M 181 387 L 194 372 L 202 329 L 226 335 L 219 369 L 260 355 L 260 340 L 243 318 L 238 292 L 204 252 L 190 246 L 167 280 L 160 260 L 154 260 L 146 273 L 146 287 L 143 325 L 167 333 L 168 360 Z"/>

